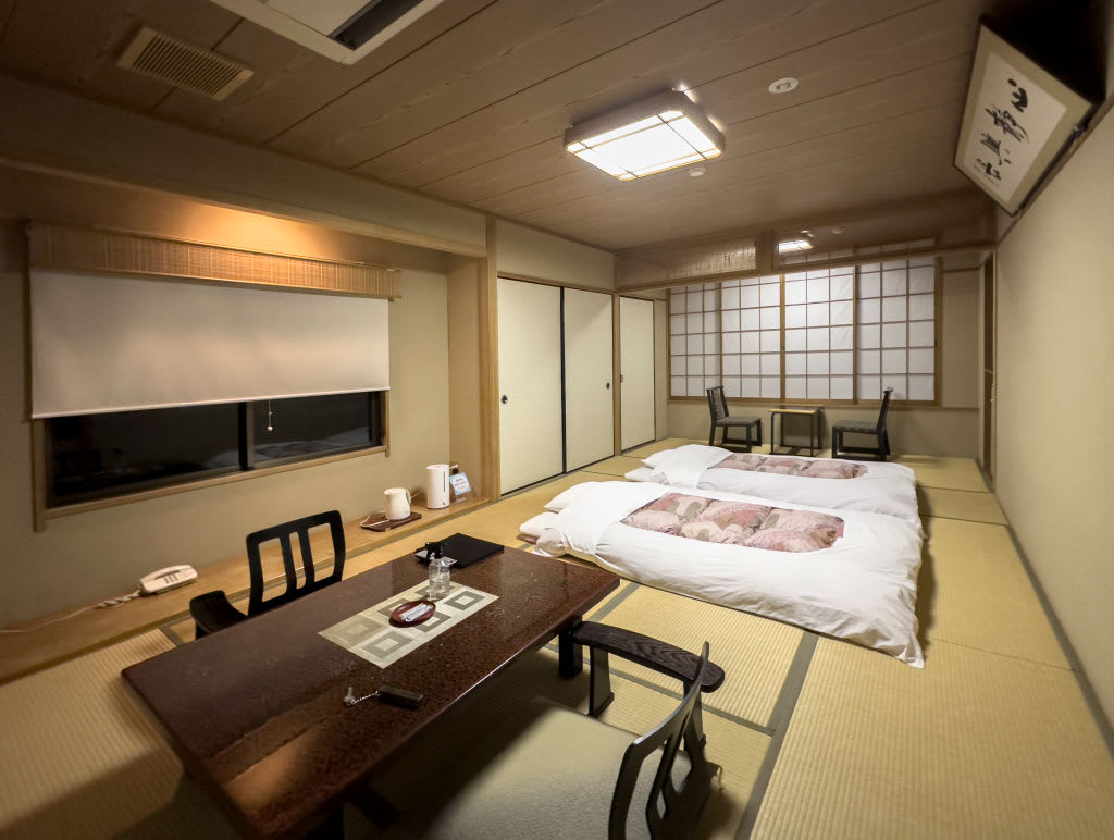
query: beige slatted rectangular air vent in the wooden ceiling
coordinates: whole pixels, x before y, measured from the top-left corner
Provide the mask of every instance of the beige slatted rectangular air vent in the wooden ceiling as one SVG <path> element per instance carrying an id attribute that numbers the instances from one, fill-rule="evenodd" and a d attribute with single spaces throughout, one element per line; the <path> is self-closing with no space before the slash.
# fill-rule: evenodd
<path id="1" fill-rule="evenodd" d="M 217 101 L 252 77 L 252 70 L 209 50 L 143 27 L 116 61 L 150 79 Z"/>

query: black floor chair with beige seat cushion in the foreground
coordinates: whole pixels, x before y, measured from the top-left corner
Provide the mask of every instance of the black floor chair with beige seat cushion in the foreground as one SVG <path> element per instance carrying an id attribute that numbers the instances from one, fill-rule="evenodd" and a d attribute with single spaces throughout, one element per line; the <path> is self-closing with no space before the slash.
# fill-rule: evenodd
<path id="1" fill-rule="evenodd" d="M 593 651 L 632 654 L 678 676 L 681 703 L 633 742 L 629 732 L 548 701 L 517 706 L 485 727 L 478 742 L 467 740 L 444 784 L 429 778 L 428 761 L 414 762 L 422 808 L 377 837 L 692 836 L 720 770 L 704 755 L 700 696 L 723 683 L 723 671 L 709 662 L 706 642 L 695 656 L 618 628 L 580 627 L 580 641 Z M 410 771 L 401 773 L 395 783 L 409 779 Z"/>

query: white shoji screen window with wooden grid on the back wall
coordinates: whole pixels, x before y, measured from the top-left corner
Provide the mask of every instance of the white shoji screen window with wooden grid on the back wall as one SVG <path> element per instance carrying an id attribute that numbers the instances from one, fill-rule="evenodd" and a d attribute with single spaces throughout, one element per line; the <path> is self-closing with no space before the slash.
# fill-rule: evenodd
<path id="1" fill-rule="evenodd" d="M 926 257 L 674 289 L 670 395 L 722 384 L 743 399 L 873 401 L 892 387 L 893 399 L 930 402 L 936 285 Z"/>

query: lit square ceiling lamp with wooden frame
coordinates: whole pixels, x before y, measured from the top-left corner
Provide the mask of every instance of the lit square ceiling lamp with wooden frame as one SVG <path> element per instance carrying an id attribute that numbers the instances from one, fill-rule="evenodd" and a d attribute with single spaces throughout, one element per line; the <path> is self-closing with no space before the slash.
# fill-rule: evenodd
<path id="1" fill-rule="evenodd" d="M 684 94 L 668 90 L 575 125 L 565 148 L 619 180 L 723 154 L 723 134 Z"/>

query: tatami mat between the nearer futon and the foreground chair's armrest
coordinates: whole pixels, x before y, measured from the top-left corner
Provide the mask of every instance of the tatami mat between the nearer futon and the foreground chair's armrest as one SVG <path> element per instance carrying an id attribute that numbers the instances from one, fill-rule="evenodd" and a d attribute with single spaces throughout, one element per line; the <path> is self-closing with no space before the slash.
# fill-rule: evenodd
<path id="1" fill-rule="evenodd" d="M 712 661 L 726 680 L 704 696 L 704 705 L 766 726 L 785 674 L 801 639 L 801 631 L 737 609 L 706 604 L 681 595 L 638 586 L 610 611 L 599 611 L 605 624 L 661 638 L 698 652 L 706 641 Z M 616 660 L 613 670 L 638 680 L 677 690 L 677 681 Z"/>

